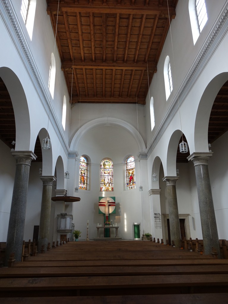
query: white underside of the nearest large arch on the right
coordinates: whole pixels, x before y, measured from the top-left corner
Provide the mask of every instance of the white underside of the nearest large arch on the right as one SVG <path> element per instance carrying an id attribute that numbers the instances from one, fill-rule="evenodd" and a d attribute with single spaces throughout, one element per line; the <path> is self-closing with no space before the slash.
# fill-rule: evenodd
<path id="1" fill-rule="evenodd" d="M 200 98 L 195 118 L 194 144 L 195 152 L 208 152 L 208 124 L 212 105 L 219 89 L 228 79 L 228 72 L 218 74 L 214 77 Z"/>

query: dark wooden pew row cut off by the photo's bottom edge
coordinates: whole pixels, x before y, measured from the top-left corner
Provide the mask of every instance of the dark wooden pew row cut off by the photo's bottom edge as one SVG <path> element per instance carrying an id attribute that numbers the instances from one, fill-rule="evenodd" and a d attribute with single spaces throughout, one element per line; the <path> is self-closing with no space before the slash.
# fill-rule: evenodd
<path id="1" fill-rule="evenodd" d="M 228 293 L 179 294 L 179 295 L 112 295 L 112 296 L 68 296 L 51 297 L 55 304 L 214 304 L 228 303 Z M 2 298 L 1 304 L 50 304 L 50 297 Z"/>

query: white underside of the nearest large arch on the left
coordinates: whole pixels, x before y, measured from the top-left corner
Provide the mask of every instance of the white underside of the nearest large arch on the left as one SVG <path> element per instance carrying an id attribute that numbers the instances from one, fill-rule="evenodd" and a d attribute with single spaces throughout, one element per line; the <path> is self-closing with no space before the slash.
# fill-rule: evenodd
<path id="1" fill-rule="evenodd" d="M 8 67 L 0 67 L 0 77 L 9 92 L 16 124 L 16 151 L 29 151 L 30 116 L 27 98 L 17 75 Z M 34 151 L 34 149 L 33 149 Z"/>

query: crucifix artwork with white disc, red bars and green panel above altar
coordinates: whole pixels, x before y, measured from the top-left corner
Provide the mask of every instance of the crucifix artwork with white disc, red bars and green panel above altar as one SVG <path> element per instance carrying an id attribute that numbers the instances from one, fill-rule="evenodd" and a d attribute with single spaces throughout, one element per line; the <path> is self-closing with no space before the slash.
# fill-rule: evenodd
<path id="1" fill-rule="evenodd" d="M 110 214 L 116 214 L 116 202 L 115 196 L 111 197 L 99 197 L 99 214 L 104 215 L 104 226 L 109 225 L 105 222 L 110 223 Z M 105 237 L 110 237 L 110 229 L 105 229 Z"/>

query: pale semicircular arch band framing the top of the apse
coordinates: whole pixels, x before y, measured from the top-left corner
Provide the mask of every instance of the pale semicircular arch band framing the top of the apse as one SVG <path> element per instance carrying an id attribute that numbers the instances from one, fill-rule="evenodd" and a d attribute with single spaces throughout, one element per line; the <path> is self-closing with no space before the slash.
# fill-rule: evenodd
<path id="1" fill-rule="evenodd" d="M 136 130 L 136 128 L 133 127 L 130 123 L 114 117 L 96 118 L 89 121 L 88 123 L 85 123 L 85 125 L 81 126 L 80 129 L 74 134 L 74 137 L 71 140 L 70 150 L 75 151 L 81 137 L 84 136 L 85 133 L 87 133 L 89 130 L 100 126 L 114 126 L 126 129 L 138 143 L 139 152 L 144 152 L 146 150 L 144 140 L 140 133 L 138 133 L 138 130 Z"/>

